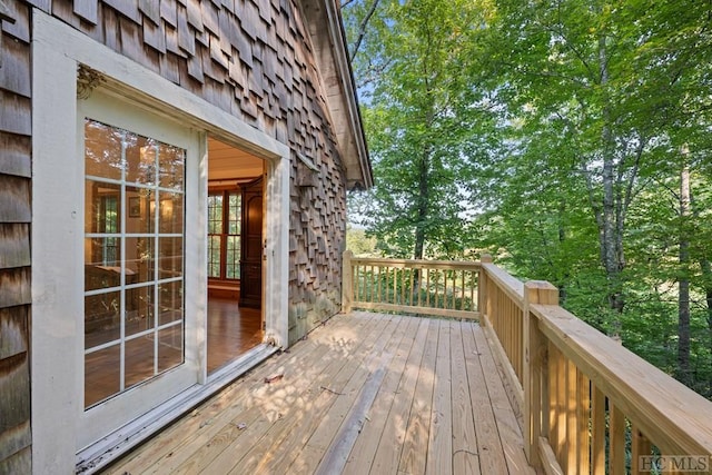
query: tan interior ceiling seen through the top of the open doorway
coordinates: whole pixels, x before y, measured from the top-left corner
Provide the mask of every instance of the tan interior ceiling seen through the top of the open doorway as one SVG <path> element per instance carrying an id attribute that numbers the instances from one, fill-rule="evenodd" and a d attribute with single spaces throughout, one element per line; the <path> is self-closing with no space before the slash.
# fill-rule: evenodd
<path id="1" fill-rule="evenodd" d="M 263 170 L 263 159 L 208 137 L 208 180 L 257 178 Z"/>

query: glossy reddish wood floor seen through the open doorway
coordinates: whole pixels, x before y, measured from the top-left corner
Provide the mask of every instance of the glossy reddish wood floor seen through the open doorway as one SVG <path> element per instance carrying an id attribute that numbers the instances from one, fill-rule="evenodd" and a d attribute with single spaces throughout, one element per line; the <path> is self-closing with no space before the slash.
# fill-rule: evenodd
<path id="1" fill-rule="evenodd" d="M 208 298 L 208 374 L 263 342 L 260 310 L 237 299 Z"/>

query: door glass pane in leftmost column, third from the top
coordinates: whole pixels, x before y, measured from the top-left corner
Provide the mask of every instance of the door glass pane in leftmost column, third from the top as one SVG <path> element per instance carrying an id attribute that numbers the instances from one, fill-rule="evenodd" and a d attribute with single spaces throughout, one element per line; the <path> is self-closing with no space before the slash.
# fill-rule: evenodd
<path id="1" fill-rule="evenodd" d="M 85 290 L 121 285 L 120 243 L 117 237 L 85 239 Z"/>

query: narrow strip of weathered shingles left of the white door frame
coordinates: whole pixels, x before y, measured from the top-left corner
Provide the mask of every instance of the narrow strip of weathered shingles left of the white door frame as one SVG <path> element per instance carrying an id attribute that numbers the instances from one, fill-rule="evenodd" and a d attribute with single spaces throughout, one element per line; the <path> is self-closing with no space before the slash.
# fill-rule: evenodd
<path id="1" fill-rule="evenodd" d="M 29 9 L 0 7 L 0 473 L 29 473 Z"/>

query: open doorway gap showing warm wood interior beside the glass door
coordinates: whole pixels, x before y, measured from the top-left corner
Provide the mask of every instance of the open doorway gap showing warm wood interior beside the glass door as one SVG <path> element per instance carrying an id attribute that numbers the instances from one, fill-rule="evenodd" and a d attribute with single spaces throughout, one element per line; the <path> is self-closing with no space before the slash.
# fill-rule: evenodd
<path id="1" fill-rule="evenodd" d="M 264 160 L 208 138 L 208 374 L 264 340 Z"/>

